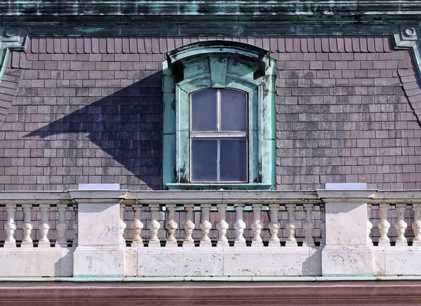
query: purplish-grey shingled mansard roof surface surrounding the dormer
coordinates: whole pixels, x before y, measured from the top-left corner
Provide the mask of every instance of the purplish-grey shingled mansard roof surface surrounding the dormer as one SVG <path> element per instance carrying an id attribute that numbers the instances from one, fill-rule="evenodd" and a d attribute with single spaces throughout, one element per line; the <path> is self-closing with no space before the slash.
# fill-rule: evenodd
<path id="1" fill-rule="evenodd" d="M 393 50 L 388 36 L 218 39 L 277 61 L 278 190 L 421 188 L 412 109 L 421 92 L 408 50 Z M 161 63 L 195 41 L 32 37 L 11 53 L 6 74 L 18 89 L 4 94 L 13 102 L 0 126 L 0 190 L 161 189 Z"/>

